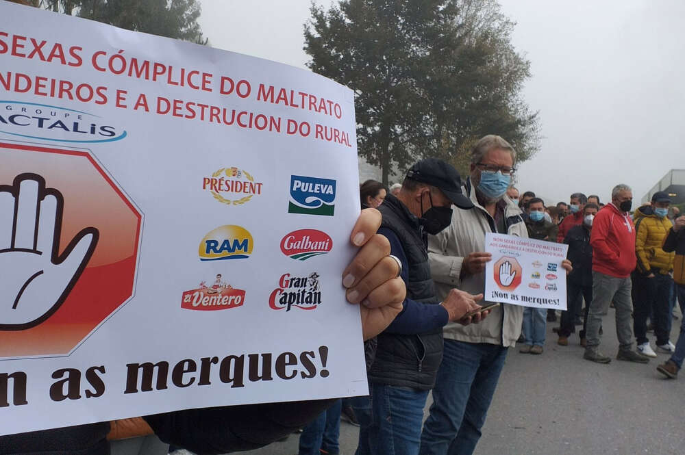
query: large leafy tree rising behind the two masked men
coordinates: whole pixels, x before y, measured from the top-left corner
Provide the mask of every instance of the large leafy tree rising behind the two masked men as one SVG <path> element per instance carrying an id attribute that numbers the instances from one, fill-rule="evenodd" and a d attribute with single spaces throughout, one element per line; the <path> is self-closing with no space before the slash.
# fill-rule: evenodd
<path id="1" fill-rule="evenodd" d="M 440 157 L 466 170 L 488 133 L 519 159 L 539 148 L 538 114 L 521 97 L 530 62 L 496 0 L 341 0 L 312 4 L 305 51 L 314 72 L 356 93 L 360 154 L 381 166 Z"/>

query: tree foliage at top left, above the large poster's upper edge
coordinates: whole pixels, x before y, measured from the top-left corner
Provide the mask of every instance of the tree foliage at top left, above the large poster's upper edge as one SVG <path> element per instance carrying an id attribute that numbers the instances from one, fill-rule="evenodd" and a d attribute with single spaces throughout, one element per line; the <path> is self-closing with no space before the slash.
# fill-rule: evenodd
<path id="1" fill-rule="evenodd" d="M 123 29 L 208 44 L 195 0 L 40 0 L 48 10 L 73 14 Z"/>

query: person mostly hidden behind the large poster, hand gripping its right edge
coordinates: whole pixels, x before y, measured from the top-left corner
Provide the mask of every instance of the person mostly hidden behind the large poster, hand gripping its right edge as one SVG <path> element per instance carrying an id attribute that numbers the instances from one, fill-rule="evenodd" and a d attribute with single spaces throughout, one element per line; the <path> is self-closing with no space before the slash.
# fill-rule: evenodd
<path id="1" fill-rule="evenodd" d="M 350 241 L 363 248 L 343 271 L 346 278 L 355 277 L 344 279 L 343 285 L 349 293 L 358 293 L 357 299 L 348 300 L 355 304 L 367 300 L 360 305 L 364 339 L 373 338 L 392 322 L 406 294 L 397 263 L 388 257 L 388 241 L 376 234 L 380 222 L 380 213 L 375 209 L 360 213 Z M 316 400 L 197 408 L 146 416 L 142 423 L 147 427 L 144 431 L 154 432 L 166 443 L 198 454 L 223 454 L 281 439 L 308 424 L 331 404 L 332 400 Z M 10 434 L 0 437 L 0 453 L 106 455 L 110 454 L 110 443 L 105 439 L 108 432 L 110 423 L 99 422 Z"/>

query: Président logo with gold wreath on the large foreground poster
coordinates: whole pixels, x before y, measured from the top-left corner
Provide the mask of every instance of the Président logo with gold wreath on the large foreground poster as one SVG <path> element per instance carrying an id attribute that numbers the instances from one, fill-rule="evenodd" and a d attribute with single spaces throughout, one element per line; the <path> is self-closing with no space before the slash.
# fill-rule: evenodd
<path id="1" fill-rule="evenodd" d="M 202 190 L 225 205 L 242 205 L 262 194 L 264 183 L 256 181 L 247 170 L 231 167 L 217 169 L 203 177 Z"/>

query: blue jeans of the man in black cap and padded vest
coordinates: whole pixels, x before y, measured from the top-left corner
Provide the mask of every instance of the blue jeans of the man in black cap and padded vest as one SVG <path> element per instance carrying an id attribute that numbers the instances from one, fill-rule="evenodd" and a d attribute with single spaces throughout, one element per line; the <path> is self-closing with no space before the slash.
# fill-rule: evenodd
<path id="1" fill-rule="evenodd" d="M 356 455 L 416 455 L 427 390 L 370 384 L 368 397 L 350 404 L 359 421 Z"/>

